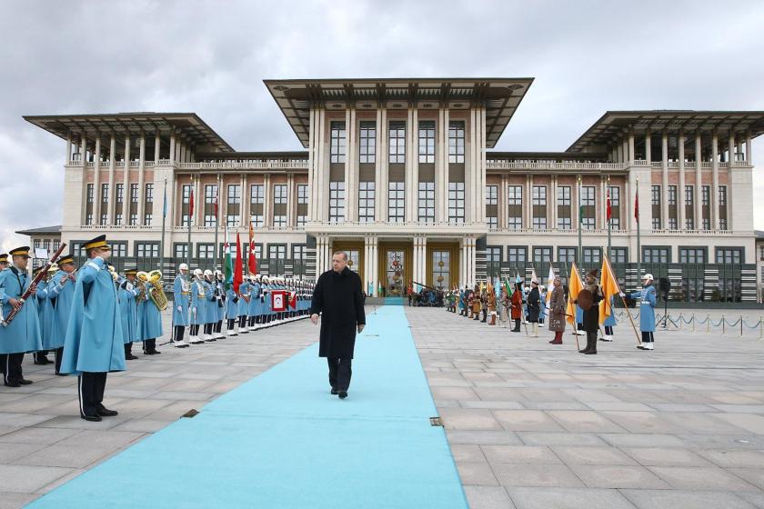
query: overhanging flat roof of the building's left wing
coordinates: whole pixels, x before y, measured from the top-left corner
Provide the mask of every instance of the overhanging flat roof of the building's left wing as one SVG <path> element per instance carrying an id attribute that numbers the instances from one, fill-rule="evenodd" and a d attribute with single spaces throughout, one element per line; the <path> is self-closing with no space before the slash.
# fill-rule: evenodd
<path id="1" fill-rule="evenodd" d="M 143 131 L 146 135 L 152 135 L 156 131 L 166 133 L 176 131 L 186 135 L 196 145 L 211 145 L 223 152 L 234 150 L 196 113 L 25 115 L 24 119 L 63 139 L 70 134 L 76 137 L 81 133 L 85 133 L 87 139 L 93 140 L 97 136 L 106 136 L 112 132 L 120 135 L 128 133 L 138 135 Z"/>

